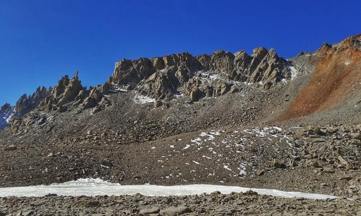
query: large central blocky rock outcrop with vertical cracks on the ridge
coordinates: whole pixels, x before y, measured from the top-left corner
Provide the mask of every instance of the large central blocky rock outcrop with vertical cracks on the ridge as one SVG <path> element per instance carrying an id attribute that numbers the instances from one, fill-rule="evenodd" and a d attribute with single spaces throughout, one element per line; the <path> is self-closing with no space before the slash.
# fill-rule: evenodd
<path id="1" fill-rule="evenodd" d="M 255 48 L 251 56 L 243 50 L 235 54 L 221 50 L 195 57 L 184 52 L 151 59 L 123 59 L 115 64 L 111 81 L 158 100 L 172 99 L 180 93 L 198 100 L 201 96 L 222 95 L 238 81 L 259 82 L 263 89 L 269 89 L 291 78 L 291 65 L 273 48 Z M 204 78 L 214 81 L 203 83 Z"/>

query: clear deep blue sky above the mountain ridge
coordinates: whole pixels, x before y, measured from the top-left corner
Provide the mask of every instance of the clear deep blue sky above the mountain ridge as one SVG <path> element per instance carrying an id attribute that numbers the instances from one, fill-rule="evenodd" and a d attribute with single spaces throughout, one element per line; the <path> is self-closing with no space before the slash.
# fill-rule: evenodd
<path id="1" fill-rule="evenodd" d="M 122 58 L 257 46 L 291 57 L 361 32 L 360 0 L 2 0 L 0 104 L 79 70 L 83 85 Z"/>

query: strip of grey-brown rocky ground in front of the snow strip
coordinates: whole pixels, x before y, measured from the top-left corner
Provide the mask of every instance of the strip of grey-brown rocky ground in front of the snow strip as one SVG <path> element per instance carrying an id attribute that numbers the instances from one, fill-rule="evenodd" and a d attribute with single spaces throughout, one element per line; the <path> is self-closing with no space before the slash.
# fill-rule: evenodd
<path id="1" fill-rule="evenodd" d="M 280 198 L 246 193 L 189 196 L 0 198 L 0 215 L 361 215 L 361 200 Z"/>

